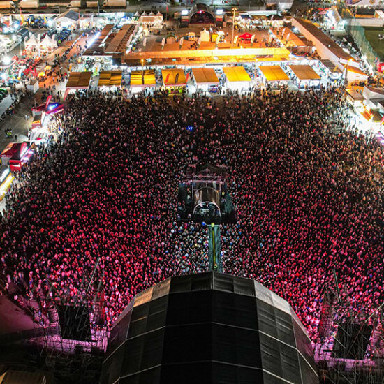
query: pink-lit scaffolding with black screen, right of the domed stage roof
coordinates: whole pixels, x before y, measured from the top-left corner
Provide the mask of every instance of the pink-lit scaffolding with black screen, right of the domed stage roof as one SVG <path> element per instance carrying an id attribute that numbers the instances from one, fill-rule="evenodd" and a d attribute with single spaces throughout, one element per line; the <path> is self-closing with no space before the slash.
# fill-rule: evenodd
<path id="1" fill-rule="evenodd" d="M 370 314 L 352 313 L 348 300 L 346 292 L 325 287 L 315 345 L 320 383 L 383 384 L 383 307 Z"/>

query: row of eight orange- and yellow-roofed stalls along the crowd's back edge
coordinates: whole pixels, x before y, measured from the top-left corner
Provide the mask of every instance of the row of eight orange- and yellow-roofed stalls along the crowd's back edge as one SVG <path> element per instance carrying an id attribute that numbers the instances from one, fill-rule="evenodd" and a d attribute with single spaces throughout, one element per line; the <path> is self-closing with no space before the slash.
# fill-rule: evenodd
<path id="1" fill-rule="evenodd" d="M 161 75 L 160 75 L 161 74 Z M 163 86 L 169 91 L 179 91 L 191 79 L 197 89 L 209 90 L 212 87 L 226 85 L 230 89 L 247 89 L 256 82 L 264 84 L 287 84 L 294 82 L 297 87 L 319 87 L 322 77 L 309 64 L 258 65 L 255 69 L 244 66 L 223 66 L 221 68 L 200 67 L 184 70 L 183 68 L 135 69 L 130 72 L 130 80 L 126 82 L 131 91 L 139 92 L 145 88 Z M 120 87 L 123 73 L 117 71 L 101 71 L 98 76 L 98 87 Z M 71 89 L 88 89 L 92 81 L 91 72 L 72 72 L 66 84 Z M 96 80 L 95 80 L 96 81 Z"/>

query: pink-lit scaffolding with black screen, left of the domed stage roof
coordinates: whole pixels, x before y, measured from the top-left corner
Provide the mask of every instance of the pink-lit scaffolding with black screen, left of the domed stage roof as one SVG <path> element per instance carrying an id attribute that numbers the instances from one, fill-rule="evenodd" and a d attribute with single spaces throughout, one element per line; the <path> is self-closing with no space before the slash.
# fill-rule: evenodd
<path id="1" fill-rule="evenodd" d="M 40 348 L 47 369 L 68 383 L 96 383 L 107 347 L 103 279 L 93 278 L 84 279 L 75 295 L 59 293 L 48 280 L 34 293 L 31 343 Z"/>

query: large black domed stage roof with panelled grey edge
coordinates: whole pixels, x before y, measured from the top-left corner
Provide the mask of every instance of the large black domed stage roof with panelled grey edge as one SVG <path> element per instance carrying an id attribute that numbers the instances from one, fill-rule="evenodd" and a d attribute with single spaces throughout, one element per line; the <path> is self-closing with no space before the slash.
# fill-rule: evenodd
<path id="1" fill-rule="evenodd" d="M 136 295 L 112 327 L 101 384 L 315 384 L 311 341 L 286 300 L 207 272 Z"/>

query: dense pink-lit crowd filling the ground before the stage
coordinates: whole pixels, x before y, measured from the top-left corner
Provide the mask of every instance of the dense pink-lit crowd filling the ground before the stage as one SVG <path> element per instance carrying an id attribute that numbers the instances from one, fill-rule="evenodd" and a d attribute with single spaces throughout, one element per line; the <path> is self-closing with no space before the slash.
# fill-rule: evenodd
<path id="1" fill-rule="evenodd" d="M 55 124 L 59 142 L 7 200 L 9 292 L 36 296 L 47 278 L 76 295 L 99 258 L 110 325 L 141 290 L 205 271 L 207 229 L 177 223 L 177 185 L 187 165 L 210 162 L 228 167 L 237 209 L 222 229 L 225 272 L 288 300 L 313 340 L 333 269 L 349 316 L 383 302 L 383 149 L 350 126 L 341 90 L 213 100 L 89 91 L 68 96 Z"/>

